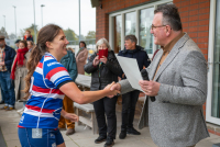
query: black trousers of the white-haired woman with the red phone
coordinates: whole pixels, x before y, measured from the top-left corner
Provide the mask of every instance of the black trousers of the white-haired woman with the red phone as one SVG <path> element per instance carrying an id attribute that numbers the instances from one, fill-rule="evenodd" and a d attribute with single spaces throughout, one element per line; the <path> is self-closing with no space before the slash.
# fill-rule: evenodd
<path id="1" fill-rule="evenodd" d="M 94 109 L 97 117 L 97 123 L 99 127 L 99 135 L 107 136 L 111 139 L 116 139 L 117 135 L 117 115 L 116 115 L 116 104 L 117 104 L 118 97 L 112 99 L 110 98 L 102 98 L 96 102 L 94 102 Z M 106 116 L 107 123 L 106 123 Z"/>

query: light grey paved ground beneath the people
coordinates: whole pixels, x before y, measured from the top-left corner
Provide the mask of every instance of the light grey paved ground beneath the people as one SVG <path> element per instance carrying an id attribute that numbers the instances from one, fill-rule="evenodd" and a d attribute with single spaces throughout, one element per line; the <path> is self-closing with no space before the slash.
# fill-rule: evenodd
<path id="1" fill-rule="evenodd" d="M 2 104 L 0 108 L 3 106 Z M 16 109 L 21 109 L 22 103 L 16 103 Z M 120 110 L 120 109 L 118 109 Z M 118 117 L 118 131 L 117 131 L 117 139 L 114 140 L 114 147 L 156 147 L 153 143 L 151 135 L 148 133 L 148 128 L 141 129 L 140 136 L 128 135 L 125 139 L 119 139 L 120 125 L 121 125 L 121 114 L 117 112 Z M 8 147 L 21 147 L 19 137 L 18 137 L 18 123 L 20 121 L 20 115 L 16 111 L 0 111 L 0 127 L 3 134 L 3 138 L 7 143 Z M 138 116 L 135 118 L 134 125 L 138 124 Z M 85 126 L 77 126 L 76 133 L 70 136 L 65 135 L 65 131 L 62 131 L 63 137 L 65 139 L 67 147 L 103 147 L 103 144 L 95 144 L 94 140 L 98 137 L 98 135 L 92 135 L 91 129 L 86 128 Z M 211 137 L 201 140 L 197 144 L 196 147 L 212 147 L 212 144 L 220 143 L 220 136 L 210 134 Z M 0 145 L 1 147 L 1 145 Z"/>

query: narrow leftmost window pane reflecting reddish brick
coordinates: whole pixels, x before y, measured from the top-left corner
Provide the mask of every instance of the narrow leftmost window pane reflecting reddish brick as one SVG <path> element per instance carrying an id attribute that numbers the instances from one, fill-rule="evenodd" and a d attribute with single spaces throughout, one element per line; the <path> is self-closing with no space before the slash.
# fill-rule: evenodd
<path id="1" fill-rule="evenodd" d="M 114 53 L 119 53 L 121 50 L 121 15 L 114 16 Z"/>

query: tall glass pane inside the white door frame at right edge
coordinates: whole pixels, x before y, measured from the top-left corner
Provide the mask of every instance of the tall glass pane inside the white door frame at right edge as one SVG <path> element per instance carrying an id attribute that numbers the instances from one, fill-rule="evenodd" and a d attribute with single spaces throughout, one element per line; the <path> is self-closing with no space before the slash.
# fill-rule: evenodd
<path id="1" fill-rule="evenodd" d="M 220 118 L 220 0 L 217 1 L 211 116 Z"/>

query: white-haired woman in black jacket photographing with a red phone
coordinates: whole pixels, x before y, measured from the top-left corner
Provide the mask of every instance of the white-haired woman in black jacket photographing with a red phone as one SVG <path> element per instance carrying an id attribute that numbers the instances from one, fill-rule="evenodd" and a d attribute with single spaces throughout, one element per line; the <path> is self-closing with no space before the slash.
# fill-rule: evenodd
<path id="1" fill-rule="evenodd" d="M 106 38 L 99 39 L 96 44 L 96 48 L 97 52 L 91 55 L 88 64 L 84 66 L 85 71 L 91 74 L 91 91 L 101 90 L 112 81 L 117 82 L 118 75 L 122 72 L 116 55 L 113 50 L 111 50 Z M 107 139 L 105 147 L 111 147 L 114 145 L 113 139 L 116 139 L 117 134 L 117 100 L 118 97 L 112 99 L 103 97 L 94 102 L 94 109 L 99 127 L 99 137 L 95 143 L 99 144 Z M 106 123 L 105 114 L 108 123 Z"/>

